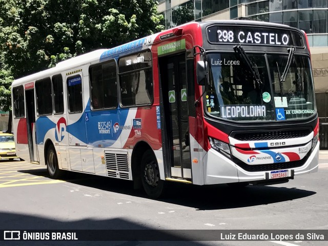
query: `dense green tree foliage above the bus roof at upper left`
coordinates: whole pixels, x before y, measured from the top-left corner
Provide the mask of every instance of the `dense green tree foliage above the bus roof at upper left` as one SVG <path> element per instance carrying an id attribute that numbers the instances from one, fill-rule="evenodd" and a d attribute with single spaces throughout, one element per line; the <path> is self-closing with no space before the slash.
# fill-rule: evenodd
<path id="1" fill-rule="evenodd" d="M 154 0 L 0 0 L 0 107 L 13 78 L 158 32 L 162 18 Z"/>

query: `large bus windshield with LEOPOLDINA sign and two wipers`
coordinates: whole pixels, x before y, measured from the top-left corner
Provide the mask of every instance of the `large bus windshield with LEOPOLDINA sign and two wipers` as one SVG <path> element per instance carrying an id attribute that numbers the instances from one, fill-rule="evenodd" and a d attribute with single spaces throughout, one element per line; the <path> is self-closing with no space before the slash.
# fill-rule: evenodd
<path id="1" fill-rule="evenodd" d="M 313 115 L 316 108 L 310 59 L 290 55 L 288 68 L 288 57 L 208 53 L 209 83 L 203 99 L 206 112 L 235 121 L 291 120 Z"/>

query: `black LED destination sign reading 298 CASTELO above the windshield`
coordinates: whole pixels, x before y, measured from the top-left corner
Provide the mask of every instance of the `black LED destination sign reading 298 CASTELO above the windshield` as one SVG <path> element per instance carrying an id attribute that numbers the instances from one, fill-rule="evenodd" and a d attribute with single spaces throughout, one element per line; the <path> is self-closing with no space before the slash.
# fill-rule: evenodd
<path id="1" fill-rule="evenodd" d="M 207 35 L 210 43 L 304 47 L 301 33 L 288 29 L 212 26 Z"/>

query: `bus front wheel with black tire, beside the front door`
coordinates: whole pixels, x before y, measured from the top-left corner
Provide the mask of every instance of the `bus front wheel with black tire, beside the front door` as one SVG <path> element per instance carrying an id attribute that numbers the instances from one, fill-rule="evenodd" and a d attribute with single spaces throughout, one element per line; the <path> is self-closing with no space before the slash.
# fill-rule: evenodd
<path id="1" fill-rule="evenodd" d="M 152 150 L 147 150 L 141 158 L 140 177 L 146 194 L 159 198 L 164 192 L 164 181 L 160 179 L 156 157 Z"/>

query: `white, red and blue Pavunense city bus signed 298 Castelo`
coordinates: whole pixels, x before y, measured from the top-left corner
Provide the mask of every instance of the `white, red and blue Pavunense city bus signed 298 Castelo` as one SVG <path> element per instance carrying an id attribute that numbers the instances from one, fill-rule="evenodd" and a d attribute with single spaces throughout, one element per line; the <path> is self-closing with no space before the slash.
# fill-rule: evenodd
<path id="1" fill-rule="evenodd" d="M 318 170 L 308 38 L 285 25 L 192 22 L 95 50 L 14 80 L 12 109 L 19 157 L 152 198 L 168 181 L 242 188 Z"/>

